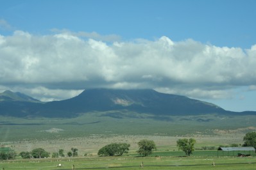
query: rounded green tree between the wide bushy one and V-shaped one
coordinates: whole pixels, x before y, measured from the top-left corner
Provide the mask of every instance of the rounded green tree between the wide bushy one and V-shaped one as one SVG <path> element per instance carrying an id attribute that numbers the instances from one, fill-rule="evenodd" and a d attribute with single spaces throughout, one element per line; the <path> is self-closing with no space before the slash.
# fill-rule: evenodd
<path id="1" fill-rule="evenodd" d="M 157 147 L 155 146 L 154 141 L 149 141 L 147 139 L 142 139 L 138 143 L 139 150 L 137 151 L 140 155 L 143 155 L 144 157 L 150 155 L 154 150 L 157 150 Z"/>

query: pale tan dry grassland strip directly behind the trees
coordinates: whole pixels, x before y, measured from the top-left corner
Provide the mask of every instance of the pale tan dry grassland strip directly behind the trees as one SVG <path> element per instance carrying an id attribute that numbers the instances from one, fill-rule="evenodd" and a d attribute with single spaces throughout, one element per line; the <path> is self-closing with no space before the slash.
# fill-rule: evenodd
<path id="1" fill-rule="evenodd" d="M 215 136 L 185 136 L 186 138 L 196 139 L 195 148 L 203 146 L 214 146 L 216 149 L 220 145 L 243 144 L 243 134 L 237 135 L 215 135 Z M 34 148 L 44 148 L 50 153 L 64 149 L 64 152 L 70 151 L 71 148 L 78 148 L 80 156 L 89 154 L 97 155 L 98 150 L 110 143 L 128 143 L 131 144 L 130 150 L 137 150 L 137 143 L 141 139 L 153 140 L 158 150 L 176 151 L 176 141 L 184 138 L 184 136 L 161 136 L 161 135 L 89 135 L 88 137 L 63 138 L 63 139 L 45 139 L 45 140 L 21 140 L 1 143 L 15 150 L 17 153 L 21 151 L 31 151 Z"/>

